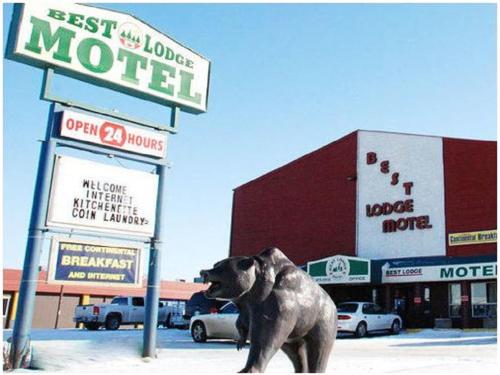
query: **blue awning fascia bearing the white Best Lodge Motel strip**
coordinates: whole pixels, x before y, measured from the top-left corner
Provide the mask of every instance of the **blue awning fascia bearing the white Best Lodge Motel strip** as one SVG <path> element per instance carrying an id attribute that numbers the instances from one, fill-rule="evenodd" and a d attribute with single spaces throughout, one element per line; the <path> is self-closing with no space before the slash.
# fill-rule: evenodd
<path id="1" fill-rule="evenodd" d="M 497 277 L 496 256 L 422 257 L 373 261 L 374 282 L 382 284 L 484 280 Z"/>

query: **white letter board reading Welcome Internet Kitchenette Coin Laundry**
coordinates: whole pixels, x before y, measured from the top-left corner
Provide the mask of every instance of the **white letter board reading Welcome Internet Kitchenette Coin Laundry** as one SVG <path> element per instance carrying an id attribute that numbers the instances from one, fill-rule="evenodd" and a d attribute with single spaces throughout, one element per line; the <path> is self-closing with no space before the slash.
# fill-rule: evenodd
<path id="1" fill-rule="evenodd" d="M 152 237 L 158 176 L 57 156 L 47 226 Z"/>

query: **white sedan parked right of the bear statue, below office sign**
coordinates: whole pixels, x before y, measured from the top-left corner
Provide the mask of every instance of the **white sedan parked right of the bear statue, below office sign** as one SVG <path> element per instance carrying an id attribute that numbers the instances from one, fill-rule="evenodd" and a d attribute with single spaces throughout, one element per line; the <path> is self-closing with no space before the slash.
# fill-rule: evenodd
<path id="1" fill-rule="evenodd" d="M 369 331 L 389 330 L 398 334 L 403 321 L 399 315 L 384 312 L 370 302 L 345 302 L 337 306 L 338 331 L 365 336 Z"/>

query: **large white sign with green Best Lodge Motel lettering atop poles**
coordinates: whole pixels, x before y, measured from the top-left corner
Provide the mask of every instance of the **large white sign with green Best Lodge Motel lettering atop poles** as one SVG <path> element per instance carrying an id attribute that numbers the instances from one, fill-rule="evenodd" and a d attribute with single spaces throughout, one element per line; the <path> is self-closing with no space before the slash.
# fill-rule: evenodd
<path id="1" fill-rule="evenodd" d="M 7 57 L 192 113 L 207 110 L 210 62 L 128 14 L 16 5 Z"/>

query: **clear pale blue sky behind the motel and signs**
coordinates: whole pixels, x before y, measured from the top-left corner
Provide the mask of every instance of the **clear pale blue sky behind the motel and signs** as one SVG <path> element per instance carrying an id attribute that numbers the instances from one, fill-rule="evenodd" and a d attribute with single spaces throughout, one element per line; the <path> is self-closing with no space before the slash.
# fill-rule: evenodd
<path id="1" fill-rule="evenodd" d="M 212 61 L 208 112 L 181 114 L 169 139 L 164 279 L 191 280 L 227 256 L 233 188 L 356 129 L 496 139 L 493 4 L 101 6 Z M 3 10 L 5 43 L 12 6 Z M 21 268 L 48 103 L 41 70 L 4 60 L 3 78 L 4 267 Z M 69 79 L 55 90 L 169 116 Z"/>

